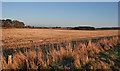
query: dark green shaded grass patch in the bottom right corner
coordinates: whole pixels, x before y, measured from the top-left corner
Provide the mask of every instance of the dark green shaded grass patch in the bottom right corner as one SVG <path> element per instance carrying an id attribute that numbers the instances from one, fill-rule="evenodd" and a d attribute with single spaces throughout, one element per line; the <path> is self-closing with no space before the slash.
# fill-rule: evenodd
<path id="1" fill-rule="evenodd" d="M 115 71 L 120 70 L 120 44 L 114 47 L 114 49 L 105 50 L 104 52 L 100 52 L 94 59 L 95 61 L 89 61 L 82 68 L 84 69 L 112 69 Z M 100 65 L 98 65 L 100 64 Z M 95 67 L 96 66 L 96 67 Z"/>

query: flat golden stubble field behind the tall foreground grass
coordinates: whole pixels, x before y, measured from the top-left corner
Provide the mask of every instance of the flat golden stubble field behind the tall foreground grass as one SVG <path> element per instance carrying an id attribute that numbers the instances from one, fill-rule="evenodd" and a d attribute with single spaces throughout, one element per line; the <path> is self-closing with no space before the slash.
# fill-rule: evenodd
<path id="1" fill-rule="evenodd" d="M 23 48 L 46 43 L 118 35 L 118 30 L 2 29 L 4 48 Z"/>

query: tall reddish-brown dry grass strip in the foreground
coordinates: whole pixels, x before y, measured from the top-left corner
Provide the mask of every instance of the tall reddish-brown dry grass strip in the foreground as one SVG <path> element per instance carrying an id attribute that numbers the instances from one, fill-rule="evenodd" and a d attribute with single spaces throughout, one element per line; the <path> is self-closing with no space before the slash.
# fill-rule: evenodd
<path id="1" fill-rule="evenodd" d="M 8 65 L 3 57 L 2 67 L 3 69 L 110 69 L 110 66 L 115 65 L 114 62 L 105 63 L 99 60 L 101 58 L 97 55 L 100 52 L 114 49 L 117 43 L 118 37 L 115 37 L 110 40 L 99 40 L 96 43 L 89 41 L 88 45 L 77 44 L 74 49 L 69 44 L 66 48 L 60 47 L 60 50 L 53 48 L 42 51 L 38 48 L 37 51 L 16 52 L 13 54 L 11 65 Z"/>

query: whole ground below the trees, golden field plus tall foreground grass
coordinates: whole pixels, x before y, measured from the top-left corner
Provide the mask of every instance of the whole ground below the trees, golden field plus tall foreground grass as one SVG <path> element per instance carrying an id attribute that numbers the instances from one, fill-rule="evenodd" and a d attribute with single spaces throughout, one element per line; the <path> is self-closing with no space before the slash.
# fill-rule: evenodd
<path id="1" fill-rule="evenodd" d="M 2 47 L 3 69 L 119 69 L 118 30 L 2 29 Z"/>

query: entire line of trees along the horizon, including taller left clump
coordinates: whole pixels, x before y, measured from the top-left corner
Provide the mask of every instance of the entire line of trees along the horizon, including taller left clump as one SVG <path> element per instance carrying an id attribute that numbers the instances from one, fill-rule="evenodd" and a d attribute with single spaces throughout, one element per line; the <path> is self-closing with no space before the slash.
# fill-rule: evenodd
<path id="1" fill-rule="evenodd" d="M 3 28 L 36 28 L 36 29 L 68 29 L 68 30 L 116 30 L 120 29 L 120 27 L 101 27 L 95 28 L 91 26 L 77 26 L 77 27 L 34 27 L 34 26 L 25 26 L 23 22 L 18 20 L 11 20 L 11 19 L 2 19 L 0 20 L 0 26 Z"/>

